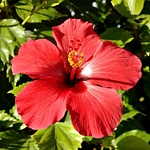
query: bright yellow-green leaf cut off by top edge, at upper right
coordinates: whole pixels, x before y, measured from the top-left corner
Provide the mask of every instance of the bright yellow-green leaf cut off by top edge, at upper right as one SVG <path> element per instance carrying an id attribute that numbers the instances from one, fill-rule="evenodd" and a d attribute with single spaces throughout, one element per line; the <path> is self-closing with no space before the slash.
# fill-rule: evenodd
<path id="1" fill-rule="evenodd" d="M 111 3 L 121 15 L 130 19 L 139 15 L 144 6 L 144 0 L 112 0 Z"/>

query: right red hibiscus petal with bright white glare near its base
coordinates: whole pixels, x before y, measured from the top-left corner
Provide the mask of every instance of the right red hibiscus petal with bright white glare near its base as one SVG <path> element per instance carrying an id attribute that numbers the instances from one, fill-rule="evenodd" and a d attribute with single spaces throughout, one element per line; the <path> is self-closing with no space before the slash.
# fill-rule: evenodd
<path id="1" fill-rule="evenodd" d="M 115 89 L 130 89 L 141 77 L 141 61 L 109 41 L 102 42 L 93 59 L 82 68 L 79 78 Z"/>

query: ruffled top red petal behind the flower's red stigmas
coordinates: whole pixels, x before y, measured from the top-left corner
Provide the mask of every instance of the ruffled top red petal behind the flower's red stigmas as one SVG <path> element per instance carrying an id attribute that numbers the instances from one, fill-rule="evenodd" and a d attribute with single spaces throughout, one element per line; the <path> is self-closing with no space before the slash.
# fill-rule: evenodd
<path id="1" fill-rule="evenodd" d="M 80 19 L 68 19 L 61 25 L 53 27 L 53 36 L 62 51 L 66 65 L 70 51 L 80 50 L 86 61 L 100 44 L 100 38 L 94 32 L 92 23 L 82 22 Z"/>

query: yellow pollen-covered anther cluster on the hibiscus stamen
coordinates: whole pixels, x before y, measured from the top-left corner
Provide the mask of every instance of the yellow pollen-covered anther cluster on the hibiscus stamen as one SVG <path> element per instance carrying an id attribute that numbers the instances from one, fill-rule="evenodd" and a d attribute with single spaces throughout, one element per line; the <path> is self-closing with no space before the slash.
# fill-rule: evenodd
<path id="1" fill-rule="evenodd" d="M 72 50 L 68 54 L 68 61 L 70 66 L 77 68 L 83 62 L 84 55 L 80 51 Z"/>

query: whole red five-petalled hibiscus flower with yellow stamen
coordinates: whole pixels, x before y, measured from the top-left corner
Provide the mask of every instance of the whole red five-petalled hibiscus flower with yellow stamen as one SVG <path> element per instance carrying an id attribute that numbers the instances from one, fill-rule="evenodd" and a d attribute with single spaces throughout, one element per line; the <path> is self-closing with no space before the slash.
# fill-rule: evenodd
<path id="1" fill-rule="evenodd" d="M 122 103 L 115 89 L 128 90 L 141 77 L 141 62 L 112 42 L 101 41 L 92 24 L 68 19 L 53 27 L 57 47 L 29 40 L 12 63 L 13 74 L 33 81 L 16 97 L 18 113 L 32 129 L 46 128 L 69 110 L 74 128 L 100 138 L 119 124 Z"/>

